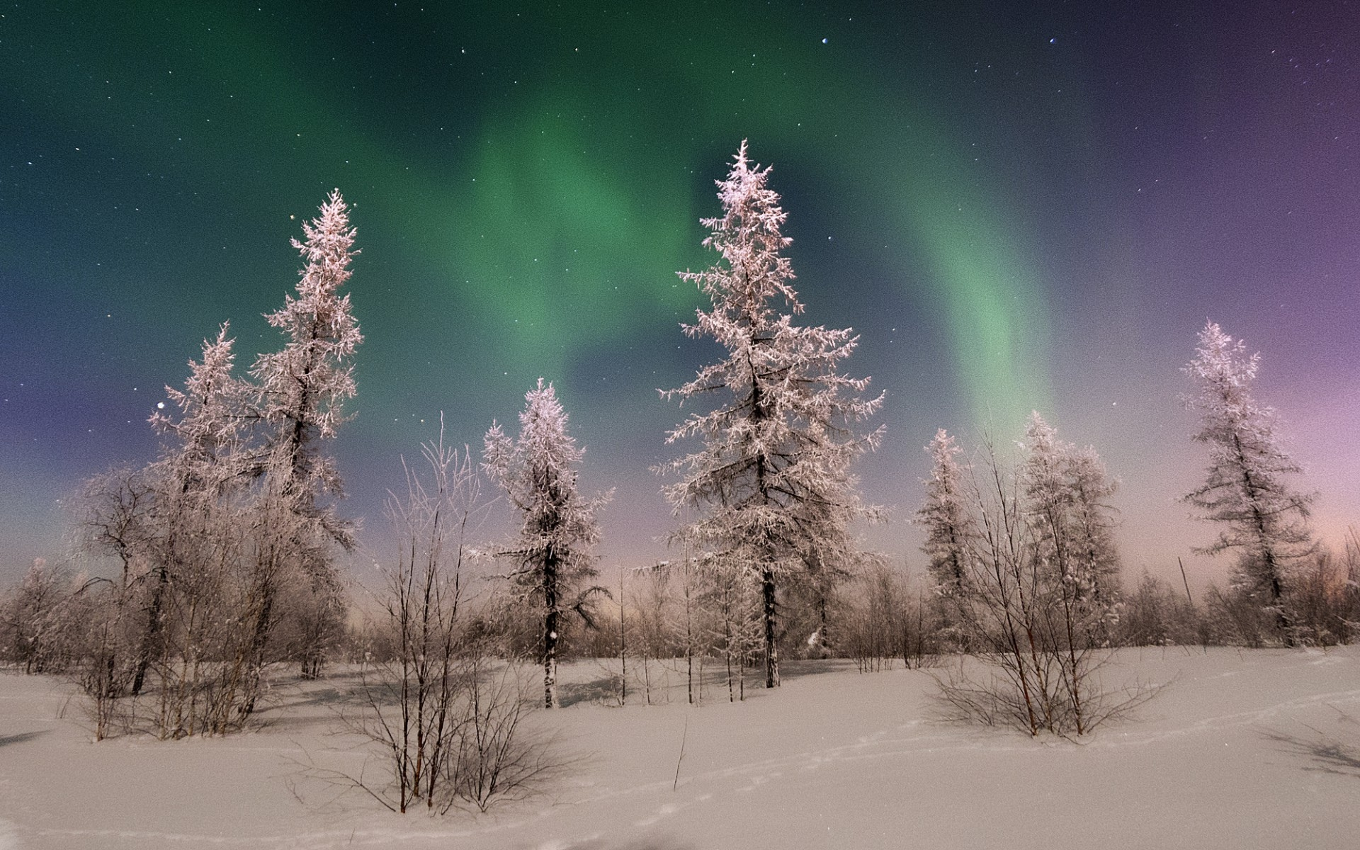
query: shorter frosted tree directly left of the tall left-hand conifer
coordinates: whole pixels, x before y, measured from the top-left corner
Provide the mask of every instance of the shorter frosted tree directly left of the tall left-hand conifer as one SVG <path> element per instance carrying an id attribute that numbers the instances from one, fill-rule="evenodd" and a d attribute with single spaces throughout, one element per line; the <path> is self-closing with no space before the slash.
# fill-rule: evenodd
<path id="1" fill-rule="evenodd" d="M 253 536 L 246 495 L 256 392 L 234 374 L 227 332 L 223 324 L 215 340 L 204 340 L 182 390 L 166 388 L 174 412 L 151 418 L 167 439 L 148 468 L 155 487 L 150 616 L 135 685 L 151 670 L 158 675 L 160 737 L 234 730 L 253 699 L 245 647 L 256 623 L 242 554 Z"/>

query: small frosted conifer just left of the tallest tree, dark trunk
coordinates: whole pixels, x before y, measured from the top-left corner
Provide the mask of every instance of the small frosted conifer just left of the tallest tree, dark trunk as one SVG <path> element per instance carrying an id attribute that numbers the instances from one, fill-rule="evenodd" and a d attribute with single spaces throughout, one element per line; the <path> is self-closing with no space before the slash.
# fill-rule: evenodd
<path id="1" fill-rule="evenodd" d="M 510 581 L 543 612 L 544 706 L 558 704 L 558 654 L 567 617 L 588 624 L 590 597 L 602 588 L 582 585 L 596 575 L 593 547 L 600 540 L 596 511 L 608 494 L 582 499 L 577 464 L 585 456 L 567 434 L 567 413 L 552 384 L 525 396 L 520 435 L 511 441 L 499 424 L 487 431 L 481 468 L 521 518 L 520 536 L 495 555 L 513 564 Z"/>

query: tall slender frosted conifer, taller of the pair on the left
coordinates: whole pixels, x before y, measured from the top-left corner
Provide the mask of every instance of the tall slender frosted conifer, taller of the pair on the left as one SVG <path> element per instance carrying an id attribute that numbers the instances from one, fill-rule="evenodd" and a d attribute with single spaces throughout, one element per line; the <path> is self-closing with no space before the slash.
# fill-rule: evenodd
<path id="1" fill-rule="evenodd" d="M 252 369 L 258 385 L 257 415 L 267 428 L 257 472 L 262 476 L 250 656 L 258 666 L 275 624 L 284 582 L 303 579 L 299 611 L 305 676 L 316 676 L 325 638 L 340 624 L 341 586 L 335 545 L 354 545 L 354 528 L 336 515 L 328 496 L 343 495 L 335 461 L 322 442 L 345 422 L 343 405 L 355 396 L 354 352 L 363 336 L 340 288 L 350 280 L 355 230 L 340 190 L 302 226 L 292 246 L 306 261 L 296 295 L 265 316 L 287 337 L 282 351 L 261 354 Z"/>

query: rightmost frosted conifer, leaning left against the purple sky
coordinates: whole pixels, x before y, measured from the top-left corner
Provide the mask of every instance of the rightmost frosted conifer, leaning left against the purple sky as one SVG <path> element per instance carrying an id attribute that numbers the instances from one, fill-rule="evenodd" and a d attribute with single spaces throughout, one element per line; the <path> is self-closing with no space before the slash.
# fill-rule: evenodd
<path id="1" fill-rule="evenodd" d="M 1183 500 L 1220 529 L 1200 551 L 1238 552 L 1234 588 L 1273 612 L 1292 643 L 1284 597 L 1291 570 L 1316 548 L 1308 528 L 1315 496 L 1287 483 L 1302 468 L 1281 445 L 1274 408 L 1251 394 L 1261 355 L 1247 356 L 1246 345 L 1212 321 L 1198 343 L 1194 360 L 1183 369 L 1195 393 L 1183 401 L 1200 411 L 1194 439 L 1209 445 L 1209 472 Z"/>

